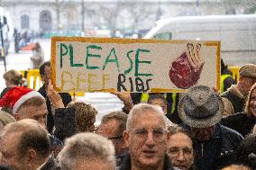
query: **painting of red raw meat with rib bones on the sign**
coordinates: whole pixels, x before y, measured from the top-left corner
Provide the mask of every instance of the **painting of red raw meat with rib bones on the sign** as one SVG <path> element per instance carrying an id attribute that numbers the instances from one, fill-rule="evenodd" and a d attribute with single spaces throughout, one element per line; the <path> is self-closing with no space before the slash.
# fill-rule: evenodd
<path id="1" fill-rule="evenodd" d="M 178 88 L 196 85 L 205 62 L 200 56 L 201 44 L 187 43 L 187 49 L 171 63 L 169 79 Z"/>

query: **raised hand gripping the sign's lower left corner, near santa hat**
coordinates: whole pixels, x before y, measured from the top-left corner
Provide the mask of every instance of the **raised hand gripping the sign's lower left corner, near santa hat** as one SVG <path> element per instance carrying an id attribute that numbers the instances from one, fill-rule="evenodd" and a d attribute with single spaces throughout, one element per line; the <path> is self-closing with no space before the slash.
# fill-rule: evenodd
<path id="1" fill-rule="evenodd" d="M 47 86 L 47 95 L 50 99 L 50 102 L 53 104 L 55 109 L 64 108 L 64 104 L 62 103 L 62 99 L 60 95 L 54 91 L 53 86 L 51 85 L 51 80 L 49 79 L 49 84 Z"/>

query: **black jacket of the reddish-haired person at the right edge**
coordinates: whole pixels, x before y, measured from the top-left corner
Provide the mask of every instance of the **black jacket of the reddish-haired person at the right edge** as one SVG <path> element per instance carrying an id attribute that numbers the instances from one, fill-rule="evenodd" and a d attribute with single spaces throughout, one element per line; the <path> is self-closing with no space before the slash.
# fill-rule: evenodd
<path id="1" fill-rule="evenodd" d="M 256 119 L 241 112 L 223 118 L 220 123 L 225 127 L 238 131 L 245 137 L 253 129 Z"/>

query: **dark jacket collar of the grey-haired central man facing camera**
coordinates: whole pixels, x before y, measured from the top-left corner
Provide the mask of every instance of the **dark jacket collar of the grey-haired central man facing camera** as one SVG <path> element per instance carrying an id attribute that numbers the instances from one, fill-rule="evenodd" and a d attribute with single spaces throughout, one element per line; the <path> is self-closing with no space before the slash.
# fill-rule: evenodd
<path id="1" fill-rule="evenodd" d="M 119 170 L 131 170 L 131 169 L 132 169 L 131 157 L 130 157 L 130 154 L 127 154 L 127 156 L 124 157 L 123 163 L 120 166 Z M 164 157 L 163 170 L 174 170 L 169 161 L 169 157 L 167 155 L 165 155 Z"/>

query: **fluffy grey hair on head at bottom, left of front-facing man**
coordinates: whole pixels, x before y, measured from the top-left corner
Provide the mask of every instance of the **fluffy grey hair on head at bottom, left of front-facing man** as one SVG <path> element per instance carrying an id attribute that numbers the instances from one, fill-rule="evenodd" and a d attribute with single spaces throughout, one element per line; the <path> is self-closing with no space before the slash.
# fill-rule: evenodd
<path id="1" fill-rule="evenodd" d="M 114 145 L 105 137 L 94 133 L 82 132 L 65 140 L 64 148 L 59 152 L 61 170 L 72 170 L 78 159 L 99 158 L 115 167 Z"/>

